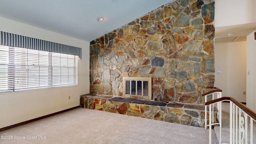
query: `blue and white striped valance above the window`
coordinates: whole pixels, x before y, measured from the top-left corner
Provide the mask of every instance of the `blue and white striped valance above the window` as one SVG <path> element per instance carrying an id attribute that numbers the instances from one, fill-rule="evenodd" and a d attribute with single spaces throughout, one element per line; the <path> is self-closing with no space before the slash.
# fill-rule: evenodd
<path id="1" fill-rule="evenodd" d="M 2 32 L 0 35 L 1 45 L 13 46 L 19 48 L 28 48 L 32 50 L 42 50 L 47 52 L 57 52 L 61 54 L 72 54 L 82 58 L 82 49 L 65 44 L 58 44 L 56 42 L 49 42 L 46 40 L 39 40 L 37 38 L 30 38 L 27 36 L 20 36 L 18 34 L 11 34 Z"/>

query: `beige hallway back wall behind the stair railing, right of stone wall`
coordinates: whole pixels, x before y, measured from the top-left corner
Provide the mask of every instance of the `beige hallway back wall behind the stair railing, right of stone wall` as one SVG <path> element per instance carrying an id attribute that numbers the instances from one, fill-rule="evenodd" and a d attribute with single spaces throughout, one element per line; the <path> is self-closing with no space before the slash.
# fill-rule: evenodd
<path id="1" fill-rule="evenodd" d="M 215 48 L 215 83 L 222 96 L 246 102 L 246 42 L 217 43 Z M 221 71 L 221 74 L 217 74 Z"/>

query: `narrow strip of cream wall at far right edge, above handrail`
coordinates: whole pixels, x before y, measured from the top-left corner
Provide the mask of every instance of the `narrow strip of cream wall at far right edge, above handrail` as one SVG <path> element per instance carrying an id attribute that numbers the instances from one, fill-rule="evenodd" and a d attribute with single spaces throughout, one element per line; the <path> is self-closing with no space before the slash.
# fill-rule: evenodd
<path id="1" fill-rule="evenodd" d="M 256 32 L 256 31 L 254 31 Z M 246 106 L 256 112 L 256 40 L 254 40 L 254 32 L 247 36 L 247 74 L 246 74 Z M 248 75 L 249 72 L 249 75 Z"/>

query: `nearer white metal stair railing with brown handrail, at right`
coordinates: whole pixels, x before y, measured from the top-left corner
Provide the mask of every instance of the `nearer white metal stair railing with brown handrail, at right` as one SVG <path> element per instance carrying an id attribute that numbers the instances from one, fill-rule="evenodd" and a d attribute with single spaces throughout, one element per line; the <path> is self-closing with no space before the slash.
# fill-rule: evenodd
<path id="1" fill-rule="evenodd" d="M 219 104 L 219 115 L 221 116 L 221 102 L 230 101 L 230 144 L 253 144 L 253 122 L 256 122 L 256 113 L 238 102 L 236 99 L 231 97 L 222 97 L 215 100 L 211 100 L 205 103 L 209 105 L 209 144 L 211 144 L 211 132 L 212 126 L 218 124 L 213 123 L 213 107 L 214 104 Z M 250 121 L 249 121 L 249 120 Z M 221 117 L 219 118 L 220 124 L 220 139 L 221 144 Z M 249 121 L 249 122 L 248 122 Z M 248 130 L 248 126 L 250 130 Z"/>

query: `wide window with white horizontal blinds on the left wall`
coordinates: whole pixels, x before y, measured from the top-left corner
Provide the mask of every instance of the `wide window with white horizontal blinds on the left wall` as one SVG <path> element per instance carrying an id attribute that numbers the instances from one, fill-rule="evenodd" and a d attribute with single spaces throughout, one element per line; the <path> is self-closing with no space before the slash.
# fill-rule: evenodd
<path id="1" fill-rule="evenodd" d="M 77 85 L 77 56 L 0 46 L 0 93 Z"/>

